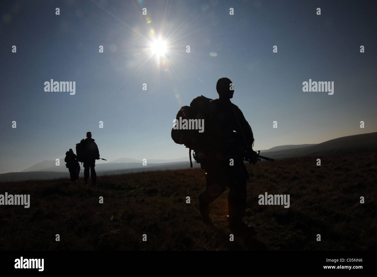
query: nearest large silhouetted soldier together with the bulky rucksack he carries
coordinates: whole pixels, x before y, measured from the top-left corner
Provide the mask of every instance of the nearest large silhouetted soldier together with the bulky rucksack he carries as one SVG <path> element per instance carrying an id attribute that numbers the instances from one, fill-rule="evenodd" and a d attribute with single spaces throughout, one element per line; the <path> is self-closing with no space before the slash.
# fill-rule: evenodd
<path id="1" fill-rule="evenodd" d="M 248 159 L 251 162 L 258 158 L 258 154 L 252 150 L 253 131 L 241 110 L 230 102 L 234 93 L 233 83 L 228 78 L 220 78 L 216 90 L 218 99 L 199 96 L 192 101 L 190 107 L 182 107 L 177 115 L 177 119 L 203 118 L 204 132 L 200 134 L 192 130 L 175 130 L 173 127 L 172 138 L 176 143 L 190 148 L 190 153 L 193 149 L 195 160 L 205 170 L 206 187 L 199 195 L 199 210 L 203 219 L 209 220 L 209 204 L 229 187 L 229 227 L 234 231 L 252 234 L 252 226 L 247 225 L 242 217 L 246 208 L 249 178 L 244 158 L 246 153 L 249 153 Z"/>

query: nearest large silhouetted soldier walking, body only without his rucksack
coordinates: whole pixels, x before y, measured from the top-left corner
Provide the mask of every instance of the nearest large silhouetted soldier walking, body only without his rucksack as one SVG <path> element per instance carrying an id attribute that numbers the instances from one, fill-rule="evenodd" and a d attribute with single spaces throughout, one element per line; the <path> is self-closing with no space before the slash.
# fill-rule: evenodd
<path id="1" fill-rule="evenodd" d="M 204 130 L 208 145 L 207 151 L 203 153 L 205 162 L 201 163 L 206 170 L 206 187 L 199 195 L 199 210 L 204 220 L 208 220 L 209 204 L 228 186 L 230 229 L 253 233 L 252 226 L 247 225 L 242 217 L 246 208 L 246 184 L 249 178 L 244 157 L 247 149 L 252 150 L 254 137 L 241 110 L 230 102 L 234 92 L 230 90 L 231 84 L 228 78 L 219 79 L 216 84 L 219 98 L 208 104 L 208 118 Z M 253 161 L 256 159 L 255 154 L 252 154 Z M 231 165 L 230 159 L 233 159 L 234 165 Z"/>

